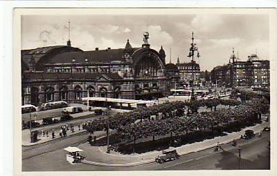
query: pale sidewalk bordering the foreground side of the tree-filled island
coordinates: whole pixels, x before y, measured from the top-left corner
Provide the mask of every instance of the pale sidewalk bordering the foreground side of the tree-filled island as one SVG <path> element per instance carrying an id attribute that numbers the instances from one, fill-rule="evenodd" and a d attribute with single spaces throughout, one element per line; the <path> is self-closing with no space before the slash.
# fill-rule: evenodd
<path id="1" fill-rule="evenodd" d="M 263 117 L 265 118 L 265 116 Z M 226 144 L 233 139 L 240 139 L 240 136 L 244 134 L 245 130 L 254 130 L 254 133 L 260 132 L 265 126 L 269 126 L 269 122 L 263 121 L 262 124 L 257 124 L 256 126 L 251 126 L 244 128 L 240 132 L 229 133 L 226 136 L 215 137 L 214 139 L 206 139 L 204 141 L 195 142 L 193 144 L 186 144 L 177 148 L 170 147 L 169 149 L 176 149 L 179 155 L 186 155 L 188 153 L 197 152 L 200 150 L 205 150 L 208 148 L 213 148 L 217 145 L 217 141 L 220 144 Z M 90 146 L 90 144 L 81 144 L 78 146 L 82 150 L 82 155 L 86 157 L 82 162 L 84 164 L 92 164 L 96 166 L 109 166 L 109 167 L 129 167 L 138 166 L 141 164 L 148 164 L 155 162 L 154 159 L 158 155 L 162 155 L 162 151 L 152 151 L 148 153 L 138 154 L 134 153 L 132 155 L 122 155 L 120 153 L 111 150 L 111 153 L 106 153 L 107 146 Z"/>

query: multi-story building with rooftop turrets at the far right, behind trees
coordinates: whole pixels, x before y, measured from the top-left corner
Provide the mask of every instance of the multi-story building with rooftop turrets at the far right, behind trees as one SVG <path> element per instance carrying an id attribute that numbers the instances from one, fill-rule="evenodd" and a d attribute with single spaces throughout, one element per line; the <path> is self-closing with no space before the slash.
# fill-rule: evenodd
<path id="1" fill-rule="evenodd" d="M 211 81 L 218 86 L 269 87 L 269 80 L 269 61 L 257 55 L 249 56 L 247 61 L 238 61 L 233 54 L 228 64 L 216 66 L 211 71 Z"/>

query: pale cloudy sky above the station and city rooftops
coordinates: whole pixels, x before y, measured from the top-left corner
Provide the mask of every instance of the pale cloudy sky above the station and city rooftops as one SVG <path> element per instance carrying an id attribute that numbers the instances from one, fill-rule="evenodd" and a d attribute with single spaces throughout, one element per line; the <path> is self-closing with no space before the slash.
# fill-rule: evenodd
<path id="1" fill-rule="evenodd" d="M 71 46 L 82 50 L 141 47 L 143 32 L 150 33 L 150 48 L 166 51 L 166 63 L 189 62 L 191 32 L 201 57 L 201 70 L 229 62 L 232 48 L 241 61 L 257 53 L 269 59 L 267 14 L 170 14 L 170 15 L 24 15 L 21 49 L 66 45 L 71 21 Z"/>

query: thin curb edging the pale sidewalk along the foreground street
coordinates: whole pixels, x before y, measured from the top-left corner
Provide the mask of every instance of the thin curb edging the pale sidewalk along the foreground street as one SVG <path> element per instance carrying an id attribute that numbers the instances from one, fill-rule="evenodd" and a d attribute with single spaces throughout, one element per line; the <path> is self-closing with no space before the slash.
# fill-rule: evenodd
<path id="1" fill-rule="evenodd" d="M 244 131 L 247 130 L 247 129 L 248 128 L 245 128 L 244 130 L 241 131 L 241 133 L 244 133 Z M 260 132 L 260 130 L 254 131 L 255 134 L 258 133 L 258 132 Z M 233 139 L 240 139 L 240 137 L 235 137 Z M 222 142 L 220 142 L 220 144 L 228 144 L 231 141 L 233 141 L 233 139 L 222 141 Z M 195 150 L 190 150 L 188 152 L 179 153 L 179 155 L 180 156 L 182 156 L 182 155 L 188 155 L 190 153 L 199 152 L 199 151 L 202 151 L 202 150 L 213 148 L 215 146 L 217 146 L 217 144 L 212 144 L 212 145 L 209 145 L 209 146 L 205 146 L 203 148 L 198 148 L 198 149 L 195 149 Z M 150 160 L 143 161 L 143 162 L 127 163 L 127 164 L 106 164 L 106 163 L 99 163 L 99 162 L 90 162 L 90 161 L 87 161 L 85 159 L 82 160 L 83 164 L 91 164 L 91 165 L 94 165 L 94 166 L 107 166 L 107 167 L 131 167 L 131 166 L 140 166 L 140 165 L 143 165 L 143 164 L 150 164 L 150 163 L 153 163 L 153 162 L 155 162 L 155 159 L 150 159 Z"/>

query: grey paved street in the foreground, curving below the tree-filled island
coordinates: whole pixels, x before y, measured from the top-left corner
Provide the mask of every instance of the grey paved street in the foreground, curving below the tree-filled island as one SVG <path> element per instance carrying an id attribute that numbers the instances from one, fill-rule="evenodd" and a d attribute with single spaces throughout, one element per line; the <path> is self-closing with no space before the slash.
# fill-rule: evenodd
<path id="1" fill-rule="evenodd" d="M 73 141 L 75 139 L 71 139 Z M 269 169 L 269 132 L 263 133 L 262 137 L 253 139 L 238 140 L 238 145 L 242 146 L 242 169 Z M 202 150 L 197 153 L 190 153 L 180 157 L 180 159 L 167 162 L 165 164 L 145 164 L 127 168 L 92 166 L 88 164 L 71 165 L 66 162 L 66 152 L 63 149 L 55 150 L 51 153 L 37 155 L 22 161 L 24 171 L 37 170 L 210 170 L 210 169 L 238 169 L 238 146 L 235 148 L 231 144 L 222 145 L 224 151 L 215 152 L 215 148 Z M 49 162 L 51 161 L 51 162 Z"/>

